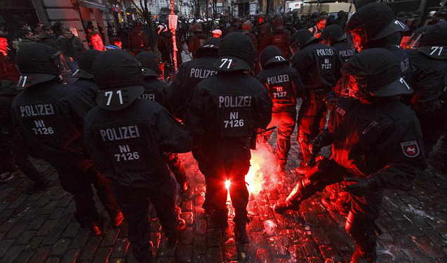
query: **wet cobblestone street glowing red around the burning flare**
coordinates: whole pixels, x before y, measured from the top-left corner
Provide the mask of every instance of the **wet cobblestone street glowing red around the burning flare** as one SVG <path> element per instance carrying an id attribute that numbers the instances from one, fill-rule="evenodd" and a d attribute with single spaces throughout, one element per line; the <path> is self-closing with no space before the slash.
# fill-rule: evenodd
<path id="1" fill-rule="evenodd" d="M 251 242 L 243 246 L 236 245 L 234 234 L 223 238 L 220 229 L 206 219 L 201 208 L 204 177 L 191 154 L 180 155 L 192 181 L 186 196 L 179 198 L 187 229 L 175 251 L 159 250 L 154 262 L 349 263 L 354 251 L 352 238 L 345 232 L 345 218 L 321 205 L 325 193 L 305 201 L 299 213 L 282 216 L 272 210 L 298 179 L 294 169 L 299 164 L 298 151 L 293 142 L 293 159 L 275 187 L 251 194 Z M 44 161 L 34 163 L 51 180 L 47 191 L 25 195 L 29 180 L 23 175 L 0 184 L 1 263 L 135 262 L 126 223 L 119 229 L 109 227 L 101 236 L 80 229 L 73 217 L 74 200 L 60 187 L 55 170 Z M 378 262 L 447 262 L 447 180 L 425 174 L 414 185 L 408 192 L 386 191 L 377 222 L 382 231 Z M 108 219 L 99 202 L 97 207 Z M 164 238 L 153 209 L 151 217 L 152 241 L 159 248 Z M 230 220 L 229 224 L 232 229 L 234 224 Z"/>

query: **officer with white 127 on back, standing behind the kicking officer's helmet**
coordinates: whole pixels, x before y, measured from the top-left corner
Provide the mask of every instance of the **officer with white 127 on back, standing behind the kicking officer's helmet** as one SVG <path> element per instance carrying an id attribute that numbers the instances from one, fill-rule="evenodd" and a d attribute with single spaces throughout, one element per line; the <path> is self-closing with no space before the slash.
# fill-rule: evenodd
<path id="1" fill-rule="evenodd" d="M 338 51 L 319 41 L 321 39 L 316 39 L 307 29 L 300 29 L 292 36 L 292 67 L 302 77 L 305 90 L 297 120 L 298 143 L 303 157 L 300 168 L 297 168 L 298 173 L 309 169 L 309 143 L 326 123 L 325 95 L 340 78 Z"/>

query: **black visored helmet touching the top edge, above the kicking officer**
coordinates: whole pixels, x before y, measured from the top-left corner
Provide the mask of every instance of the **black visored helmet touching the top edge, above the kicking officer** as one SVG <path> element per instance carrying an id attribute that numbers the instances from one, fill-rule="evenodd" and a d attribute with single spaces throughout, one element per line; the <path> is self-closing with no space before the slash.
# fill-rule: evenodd
<path id="1" fill-rule="evenodd" d="M 360 8 L 349 18 L 345 28 L 351 47 L 359 51 L 366 43 L 407 30 L 405 24 L 394 19 L 392 9 L 382 3 L 371 3 Z"/>

